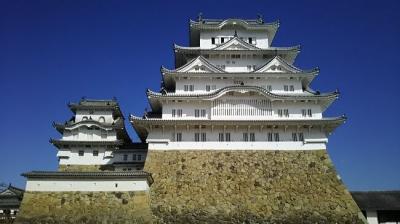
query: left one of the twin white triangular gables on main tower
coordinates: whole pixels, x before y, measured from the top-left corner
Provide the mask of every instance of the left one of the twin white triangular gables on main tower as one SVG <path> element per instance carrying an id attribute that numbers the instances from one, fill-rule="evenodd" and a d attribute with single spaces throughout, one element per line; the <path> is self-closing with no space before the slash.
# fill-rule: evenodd
<path id="1" fill-rule="evenodd" d="M 177 68 L 176 72 L 188 72 L 188 73 L 223 73 L 224 71 L 215 65 L 211 64 L 207 59 L 199 56 L 184 66 Z"/>

